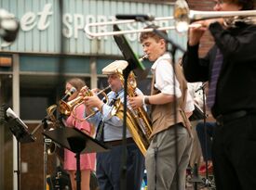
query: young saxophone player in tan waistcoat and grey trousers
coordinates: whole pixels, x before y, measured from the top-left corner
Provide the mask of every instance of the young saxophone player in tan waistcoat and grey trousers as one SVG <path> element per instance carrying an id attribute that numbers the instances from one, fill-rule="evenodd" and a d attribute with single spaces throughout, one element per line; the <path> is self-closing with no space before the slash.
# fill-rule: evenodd
<path id="1" fill-rule="evenodd" d="M 194 109 L 193 99 L 188 98 L 186 81 L 179 64 L 175 64 L 176 84 L 173 90 L 173 67 L 166 40 L 154 32 L 142 32 L 140 40 L 149 60 L 155 61 L 152 66 L 152 93 L 131 97 L 128 101 L 132 108 L 141 107 L 142 104 L 152 105 L 153 133 L 145 159 L 148 190 L 184 190 L 185 171 L 192 146 L 189 133 L 191 125 L 186 114 L 191 114 Z M 173 106 L 175 95 L 176 110 Z"/>

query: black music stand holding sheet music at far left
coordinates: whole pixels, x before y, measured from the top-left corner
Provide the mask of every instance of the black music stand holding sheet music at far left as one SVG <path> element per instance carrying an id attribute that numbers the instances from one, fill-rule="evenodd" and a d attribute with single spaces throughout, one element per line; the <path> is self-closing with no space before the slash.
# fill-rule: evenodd
<path id="1" fill-rule="evenodd" d="M 27 126 L 25 126 L 19 118 L 11 119 L 7 117 L 6 126 L 9 128 L 11 133 L 17 139 L 17 181 L 18 181 L 18 190 L 20 190 L 20 143 L 32 143 L 35 141 L 34 136 L 28 131 Z"/>

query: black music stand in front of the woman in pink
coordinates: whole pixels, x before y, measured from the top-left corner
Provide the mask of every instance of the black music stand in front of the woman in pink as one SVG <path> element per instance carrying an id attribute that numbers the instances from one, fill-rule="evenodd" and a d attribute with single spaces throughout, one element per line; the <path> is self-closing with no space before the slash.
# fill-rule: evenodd
<path id="1" fill-rule="evenodd" d="M 63 127 L 55 130 L 43 132 L 47 138 L 58 143 L 75 153 L 76 158 L 76 188 L 81 190 L 81 171 L 80 155 L 81 153 L 104 152 L 108 148 L 99 141 L 93 139 L 88 134 L 81 132 L 76 128 Z"/>

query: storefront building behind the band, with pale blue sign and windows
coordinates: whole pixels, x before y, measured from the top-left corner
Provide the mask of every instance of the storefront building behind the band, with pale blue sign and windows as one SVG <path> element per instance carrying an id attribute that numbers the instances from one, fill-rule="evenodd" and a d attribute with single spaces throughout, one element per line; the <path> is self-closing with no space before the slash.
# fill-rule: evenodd
<path id="1" fill-rule="evenodd" d="M 193 7 L 198 6 L 195 0 L 188 2 Z M 209 7 L 211 1 L 205 2 L 208 4 L 198 7 Z M 116 14 L 150 13 L 155 17 L 169 17 L 174 7 L 173 1 L 150 0 L 0 0 L 0 3 L 1 8 L 20 21 L 18 37 L 12 44 L 0 40 L 0 58 L 8 60 L 7 63 L 0 61 L 0 105 L 12 108 L 25 121 L 30 132 L 41 125 L 46 109 L 58 104 L 66 79 L 80 77 L 90 88 L 104 88 L 107 82 L 101 69 L 123 58 L 113 36 L 88 35 L 85 32 L 88 23 L 113 21 Z M 174 21 L 160 20 L 155 24 L 172 26 Z M 137 30 L 146 24 L 136 22 L 118 26 L 121 30 Z M 112 30 L 113 26 L 106 25 L 91 28 L 91 32 Z M 134 53 L 141 57 L 139 34 L 125 36 Z M 171 30 L 168 36 L 185 48 L 186 33 Z M 177 52 L 176 57 L 181 56 L 182 52 Z M 143 64 L 146 68 L 151 66 L 148 61 Z M 150 76 L 138 85 L 148 94 Z M 45 175 L 54 172 L 58 164 L 55 156 L 44 155 L 44 130 L 44 127 L 39 127 L 34 133 L 34 143 L 19 145 L 1 121 L 0 176 L 3 177 L 0 178 L 0 189 L 44 187 Z M 19 175 L 14 171 L 20 171 L 20 184 Z"/>

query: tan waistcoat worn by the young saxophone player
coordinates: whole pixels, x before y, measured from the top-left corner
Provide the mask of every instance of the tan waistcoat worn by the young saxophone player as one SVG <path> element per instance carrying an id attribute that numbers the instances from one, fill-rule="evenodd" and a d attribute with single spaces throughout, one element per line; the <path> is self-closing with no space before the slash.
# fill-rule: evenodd
<path id="1" fill-rule="evenodd" d="M 182 67 L 179 64 L 175 64 L 176 78 L 180 83 L 180 89 L 182 91 L 182 96 L 177 98 L 176 103 L 176 113 L 177 120 L 175 120 L 175 109 L 173 106 L 173 102 L 169 102 L 164 105 L 152 105 L 152 123 L 153 123 L 153 133 L 151 134 L 151 138 L 159 132 L 162 132 L 169 127 L 173 126 L 175 123 L 182 123 L 184 127 L 189 129 L 190 131 L 190 121 L 187 119 L 184 108 L 186 104 L 186 96 L 187 96 L 187 84 L 185 78 L 182 73 Z M 156 95 L 160 93 L 158 89 L 155 88 L 155 74 L 152 79 L 152 89 L 151 95 Z"/>

